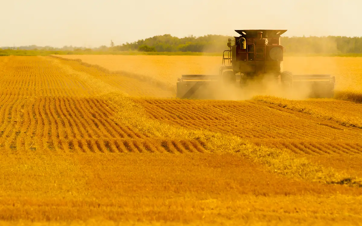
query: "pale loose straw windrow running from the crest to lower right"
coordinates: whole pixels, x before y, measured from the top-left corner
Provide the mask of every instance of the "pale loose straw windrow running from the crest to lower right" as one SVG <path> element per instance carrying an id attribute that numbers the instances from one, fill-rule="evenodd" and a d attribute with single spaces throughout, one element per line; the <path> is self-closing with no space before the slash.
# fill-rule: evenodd
<path id="1" fill-rule="evenodd" d="M 206 146 L 206 150 L 217 153 L 239 153 L 253 159 L 253 161 L 269 166 L 274 172 L 292 178 L 302 178 L 324 183 L 339 183 L 345 178 L 350 177 L 344 173 L 335 172 L 331 168 L 324 169 L 287 150 L 258 147 L 238 136 L 210 132 L 210 128 L 208 128 L 209 130 L 206 130 L 200 125 L 196 127 L 198 130 L 195 130 L 177 126 L 177 123 L 168 124 L 164 123 L 163 120 L 153 120 L 152 118 L 147 117 L 146 113 L 147 110 L 148 112 L 153 112 L 155 108 L 150 106 L 140 107 L 129 98 L 110 95 L 107 96 L 106 99 L 111 99 L 119 106 L 118 120 L 129 123 L 133 128 L 137 128 L 141 133 L 151 137 L 167 137 L 176 140 L 185 138 L 198 140 L 202 145 Z M 166 104 L 164 106 L 175 109 L 172 104 Z M 185 111 L 186 109 L 183 110 Z M 209 109 L 209 111 L 213 114 L 211 109 Z M 166 112 L 156 112 L 156 114 L 167 116 Z M 266 140 L 266 142 L 268 142 L 268 140 Z M 355 178 L 353 179 L 352 184 L 357 183 L 357 186 L 359 186 L 359 181 L 359 179 Z"/>

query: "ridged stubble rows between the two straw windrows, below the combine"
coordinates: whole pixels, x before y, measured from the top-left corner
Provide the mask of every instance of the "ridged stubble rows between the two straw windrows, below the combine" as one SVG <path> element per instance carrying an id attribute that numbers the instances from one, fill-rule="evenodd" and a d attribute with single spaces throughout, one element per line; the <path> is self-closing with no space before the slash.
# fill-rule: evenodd
<path id="1" fill-rule="evenodd" d="M 275 109 L 252 102 L 137 100 L 155 119 L 192 129 L 237 135 L 258 145 L 295 153 L 360 154 L 361 129 L 307 114 Z"/>

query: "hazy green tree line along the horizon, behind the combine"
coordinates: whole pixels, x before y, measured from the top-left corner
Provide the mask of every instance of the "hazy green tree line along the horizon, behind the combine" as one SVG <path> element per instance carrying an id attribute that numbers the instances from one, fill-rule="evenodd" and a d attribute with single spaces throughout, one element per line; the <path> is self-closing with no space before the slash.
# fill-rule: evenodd
<path id="1" fill-rule="evenodd" d="M 50 46 L 21 46 L 17 50 L 61 50 L 61 51 L 141 51 L 141 52 L 222 52 L 226 50 L 228 37 L 224 35 L 204 35 L 184 38 L 170 34 L 157 35 L 151 38 L 140 39 L 132 43 L 97 48 L 64 46 L 54 48 Z M 362 37 L 281 37 L 281 44 L 286 52 L 291 54 L 362 54 Z M 12 49 L 13 47 L 2 47 Z"/>

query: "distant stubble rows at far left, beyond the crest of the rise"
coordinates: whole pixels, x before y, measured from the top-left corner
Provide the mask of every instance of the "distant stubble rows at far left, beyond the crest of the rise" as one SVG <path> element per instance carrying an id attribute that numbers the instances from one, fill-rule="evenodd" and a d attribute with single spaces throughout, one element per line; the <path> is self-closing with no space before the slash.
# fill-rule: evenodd
<path id="1" fill-rule="evenodd" d="M 0 95 L 85 96 L 93 94 L 85 81 L 41 57 L 16 57 L 0 71 Z"/>

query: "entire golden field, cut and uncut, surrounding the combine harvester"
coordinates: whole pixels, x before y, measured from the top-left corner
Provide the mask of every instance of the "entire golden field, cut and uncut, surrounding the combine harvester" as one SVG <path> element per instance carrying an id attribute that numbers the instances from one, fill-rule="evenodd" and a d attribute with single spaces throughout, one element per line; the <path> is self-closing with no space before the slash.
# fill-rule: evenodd
<path id="1" fill-rule="evenodd" d="M 67 57 L 0 57 L 0 224 L 362 221 L 361 104 L 179 100 L 220 57 Z M 360 58 L 296 60 L 361 88 Z"/>

